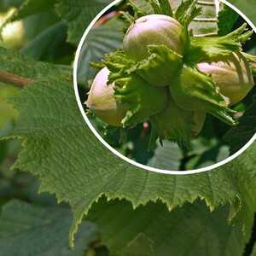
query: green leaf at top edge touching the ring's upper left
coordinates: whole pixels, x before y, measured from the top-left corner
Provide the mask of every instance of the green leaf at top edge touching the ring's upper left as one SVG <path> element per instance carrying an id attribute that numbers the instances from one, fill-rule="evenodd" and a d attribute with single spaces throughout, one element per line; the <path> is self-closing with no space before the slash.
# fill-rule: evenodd
<path id="1" fill-rule="evenodd" d="M 77 0 L 75 3 L 69 0 L 60 0 L 56 4 L 56 11 L 67 22 L 67 41 L 78 45 L 82 35 L 91 20 L 112 0 Z"/>

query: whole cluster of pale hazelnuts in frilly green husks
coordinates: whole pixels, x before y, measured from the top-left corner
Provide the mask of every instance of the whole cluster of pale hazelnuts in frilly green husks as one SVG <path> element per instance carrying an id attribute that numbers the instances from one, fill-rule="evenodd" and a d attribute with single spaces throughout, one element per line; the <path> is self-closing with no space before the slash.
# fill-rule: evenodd
<path id="1" fill-rule="evenodd" d="M 148 121 L 155 138 L 181 146 L 198 136 L 207 113 L 238 123 L 230 107 L 254 85 L 241 52 L 252 32 L 244 25 L 224 37 L 195 38 L 188 27 L 200 12 L 190 2 L 178 15 L 137 15 L 123 49 L 105 56 L 86 102 L 102 121 L 122 127 Z"/>

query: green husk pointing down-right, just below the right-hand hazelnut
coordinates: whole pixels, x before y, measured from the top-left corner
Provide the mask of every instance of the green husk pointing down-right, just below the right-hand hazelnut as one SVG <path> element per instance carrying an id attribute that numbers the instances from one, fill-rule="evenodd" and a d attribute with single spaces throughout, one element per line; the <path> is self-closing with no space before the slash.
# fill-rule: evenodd
<path id="1" fill-rule="evenodd" d="M 173 100 L 180 108 L 189 111 L 211 113 L 228 125 L 236 125 L 234 112 L 227 108 L 229 102 L 222 96 L 211 77 L 195 67 L 183 67 L 183 71 L 169 87 Z"/>

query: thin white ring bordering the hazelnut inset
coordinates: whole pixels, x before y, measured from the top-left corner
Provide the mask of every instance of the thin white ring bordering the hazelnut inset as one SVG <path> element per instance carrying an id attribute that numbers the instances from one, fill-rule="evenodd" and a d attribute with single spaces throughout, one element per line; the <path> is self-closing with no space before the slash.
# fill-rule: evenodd
<path id="1" fill-rule="evenodd" d="M 81 38 L 81 41 L 79 43 L 79 47 L 78 47 L 76 55 L 75 55 L 75 61 L 74 61 L 74 67 L 73 67 L 74 91 L 75 91 L 75 96 L 76 96 L 76 100 L 77 100 L 78 105 L 79 105 L 80 112 L 82 113 L 86 124 L 89 126 L 90 131 L 92 131 L 94 133 L 94 135 L 97 137 L 97 139 L 106 148 L 108 148 L 113 154 L 116 154 L 117 156 L 119 156 L 119 158 L 121 158 L 122 160 L 125 160 L 126 162 L 130 163 L 131 165 L 137 166 L 139 168 L 142 168 L 142 169 L 150 171 L 150 172 L 159 172 L 159 173 L 173 174 L 173 175 L 195 174 L 195 173 L 199 173 L 199 172 L 211 171 L 211 170 L 216 169 L 216 168 L 218 168 L 220 166 L 224 166 L 225 164 L 227 164 L 231 160 L 234 160 L 237 156 L 242 154 L 248 147 L 250 147 L 253 144 L 254 140 L 256 139 L 256 133 L 254 134 L 254 136 L 250 139 L 250 141 L 245 146 L 243 146 L 240 150 L 238 150 L 236 152 L 236 154 L 232 154 L 230 157 L 228 157 L 227 159 L 225 159 L 223 161 L 218 162 L 217 164 L 214 164 L 212 166 L 207 166 L 207 167 L 204 167 L 204 168 L 190 170 L 190 171 L 167 171 L 167 170 L 161 170 L 161 169 L 157 169 L 157 168 L 150 167 L 150 166 L 144 166 L 142 164 L 137 163 L 134 160 L 131 160 L 131 159 L 125 157 L 123 154 L 120 154 L 119 151 L 117 151 L 116 149 L 112 148 L 106 141 L 104 141 L 102 139 L 102 137 L 99 135 L 99 133 L 96 131 L 96 129 L 93 127 L 93 125 L 90 124 L 90 120 L 87 118 L 86 113 L 84 113 L 84 108 L 82 106 L 82 103 L 80 102 L 80 97 L 79 97 L 77 71 L 78 71 L 78 65 L 79 65 L 80 51 L 81 51 L 81 49 L 83 47 L 83 44 L 84 44 L 84 41 L 85 41 L 86 37 L 88 36 L 88 34 L 90 32 L 90 29 L 96 24 L 96 21 L 99 20 L 102 17 L 102 15 L 104 15 L 106 13 L 106 11 L 108 11 L 108 9 L 112 8 L 114 5 L 120 3 L 121 1 L 122 0 L 115 0 L 115 1 L 113 1 L 113 3 L 110 3 L 105 9 L 102 9 L 102 11 L 98 15 L 96 15 L 95 19 L 91 21 L 90 26 L 88 26 L 87 29 L 85 30 L 84 35 Z M 237 9 L 235 6 L 233 6 L 231 3 L 227 2 L 226 0 L 215 0 L 215 1 L 217 3 L 216 6 L 218 6 L 218 3 L 221 2 L 221 3 L 224 3 L 227 6 L 229 6 L 231 9 L 235 10 L 236 13 L 238 15 L 240 15 L 244 20 L 246 20 L 247 24 L 253 28 L 253 31 L 256 32 L 256 27 L 253 25 L 253 22 L 251 20 L 249 20 L 247 18 L 247 16 L 244 15 L 239 9 Z"/>

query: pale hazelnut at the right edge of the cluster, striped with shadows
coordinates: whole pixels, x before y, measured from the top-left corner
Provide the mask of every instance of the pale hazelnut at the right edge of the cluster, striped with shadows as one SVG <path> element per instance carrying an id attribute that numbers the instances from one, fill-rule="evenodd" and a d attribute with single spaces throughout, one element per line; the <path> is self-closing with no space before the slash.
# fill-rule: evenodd
<path id="1" fill-rule="evenodd" d="M 200 63 L 198 68 L 212 76 L 220 93 L 230 99 L 230 106 L 241 102 L 253 89 L 253 73 L 241 53 L 233 53 L 227 61 Z"/>

